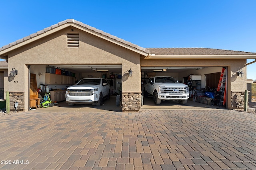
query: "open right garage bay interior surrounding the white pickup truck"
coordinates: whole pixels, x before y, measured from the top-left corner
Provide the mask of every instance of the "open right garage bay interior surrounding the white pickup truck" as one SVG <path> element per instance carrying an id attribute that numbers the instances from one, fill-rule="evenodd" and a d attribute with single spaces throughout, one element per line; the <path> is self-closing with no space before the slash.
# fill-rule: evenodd
<path id="1" fill-rule="evenodd" d="M 218 91 L 217 89 L 218 89 L 222 68 L 223 68 L 222 66 L 216 66 L 216 67 L 206 67 L 206 66 L 205 67 L 204 66 L 203 67 L 202 66 L 200 67 L 198 66 L 146 67 L 145 66 L 145 67 L 141 67 L 141 72 L 142 72 L 141 89 L 142 89 L 142 95 L 144 96 L 144 105 L 142 106 L 142 109 L 198 109 L 198 108 L 226 109 L 226 104 L 225 105 L 220 104 L 219 102 L 220 99 L 216 97 L 217 95 L 215 95 L 216 91 Z M 165 100 L 165 98 L 167 97 L 172 98 L 172 96 L 163 95 L 158 97 L 158 99 L 161 99 L 161 97 L 163 97 L 162 98 L 163 100 L 161 100 L 160 105 L 156 104 L 154 92 L 151 91 L 151 94 L 149 94 L 146 91 L 147 88 L 150 88 L 149 90 L 152 90 L 151 88 L 153 88 L 152 86 L 154 86 L 154 83 L 152 83 L 152 85 L 149 85 L 148 81 L 150 80 L 150 77 L 154 77 L 154 76 L 171 76 L 174 79 L 176 79 L 178 82 L 188 85 L 189 98 L 187 100 L 187 103 L 183 105 L 177 100 L 173 100 L 173 101 Z M 161 86 L 164 86 L 163 84 Z M 227 92 L 226 87 L 223 90 Z M 177 92 L 179 90 L 176 89 Z M 170 89 L 168 93 L 170 95 L 174 94 L 174 92 L 170 91 Z M 164 92 L 164 94 L 168 94 L 168 93 L 167 91 Z M 223 93 L 223 96 L 224 95 L 226 95 L 226 93 L 225 94 Z M 217 99 L 218 99 L 218 102 L 216 102 Z"/>

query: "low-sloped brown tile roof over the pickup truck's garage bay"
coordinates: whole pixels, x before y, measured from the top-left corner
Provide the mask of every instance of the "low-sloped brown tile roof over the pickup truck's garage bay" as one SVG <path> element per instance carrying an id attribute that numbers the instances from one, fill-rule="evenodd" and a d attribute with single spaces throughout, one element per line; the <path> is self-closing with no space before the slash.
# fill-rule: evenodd
<path id="1" fill-rule="evenodd" d="M 155 55 L 256 55 L 244 51 L 232 51 L 209 48 L 146 48 Z"/>

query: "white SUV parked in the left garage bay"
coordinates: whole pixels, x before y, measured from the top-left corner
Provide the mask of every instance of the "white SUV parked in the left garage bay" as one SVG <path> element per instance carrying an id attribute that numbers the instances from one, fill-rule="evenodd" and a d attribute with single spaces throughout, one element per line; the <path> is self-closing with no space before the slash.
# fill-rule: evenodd
<path id="1" fill-rule="evenodd" d="M 83 78 L 66 90 L 68 105 L 96 103 L 101 106 L 105 97 L 110 98 L 110 85 L 104 78 Z"/>

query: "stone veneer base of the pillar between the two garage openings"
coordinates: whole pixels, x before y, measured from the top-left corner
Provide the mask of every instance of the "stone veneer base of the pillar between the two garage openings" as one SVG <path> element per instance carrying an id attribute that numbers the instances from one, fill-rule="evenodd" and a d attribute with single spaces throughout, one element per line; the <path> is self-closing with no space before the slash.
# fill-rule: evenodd
<path id="1" fill-rule="evenodd" d="M 122 92 L 122 111 L 139 111 L 141 92 Z"/>

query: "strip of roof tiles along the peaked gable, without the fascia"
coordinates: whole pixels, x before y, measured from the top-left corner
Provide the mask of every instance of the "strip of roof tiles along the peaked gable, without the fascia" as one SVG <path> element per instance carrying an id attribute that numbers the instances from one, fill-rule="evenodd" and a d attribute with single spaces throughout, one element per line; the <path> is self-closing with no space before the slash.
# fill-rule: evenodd
<path id="1" fill-rule="evenodd" d="M 52 25 L 52 26 L 50 26 L 50 27 L 44 28 L 44 29 L 42 29 L 42 30 L 40 30 L 40 31 L 37 31 L 36 33 L 32 33 L 32 34 L 30 34 L 30 35 L 28 35 L 28 36 L 26 36 L 26 37 L 24 37 L 24 38 L 22 38 L 22 39 L 18 39 L 17 41 L 14 41 L 14 42 L 12 42 L 12 43 L 10 43 L 10 44 L 8 44 L 8 45 L 5 45 L 5 46 L 3 46 L 3 47 L 0 47 L 0 51 L 3 51 L 3 50 L 5 50 L 5 49 L 8 49 L 8 48 L 14 46 L 14 45 L 17 45 L 17 44 L 19 44 L 19 43 L 22 43 L 22 42 L 24 42 L 24 41 L 27 41 L 28 39 L 32 39 L 33 37 L 36 37 L 36 36 L 41 35 L 41 34 L 43 34 L 43 33 L 46 33 L 47 31 L 50 31 L 50 30 L 52 30 L 52 29 L 54 29 L 54 28 L 56 28 L 56 27 L 59 27 L 59 26 L 61 26 L 61 25 L 66 24 L 66 23 L 74 23 L 74 24 L 80 25 L 80 26 L 82 26 L 82 27 L 85 27 L 85 28 L 87 28 L 87 29 L 90 29 L 90 30 L 92 30 L 92 31 L 95 31 L 96 33 L 100 33 L 100 34 L 102 34 L 102 35 L 104 35 L 104 36 L 106 36 L 106 37 L 109 37 L 109 38 L 111 38 L 111 39 L 114 39 L 114 40 L 116 40 L 116 41 L 119 41 L 120 43 L 123 43 L 123 44 L 125 44 L 125 45 L 130 46 L 130 47 L 134 47 L 135 49 L 138 49 L 138 50 L 143 51 L 143 52 L 145 52 L 145 53 L 150 53 L 150 51 L 146 50 L 146 49 L 143 48 L 143 47 L 140 47 L 140 46 L 138 46 L 138 45 L 135 45 L 135 44 L 133 44 L 133 43 L 130 43 L 130 42 L 128 42 L 128 41 L 125 41 L 124 39 L 120 39 L 120 38 L 118 38 L 118 37 L 116 37 L 116 36 L 114 36 L 114 35 L 110 35 L 109 33 L 106 33 L 106 32 L 104 32 L 104 31 L 102 31 L 102 30 L 96 29 L 95 27 L 91 27 L 90 25 L 86 25 L 86 24 L 84 24 L 84 23 L 82 23 L 82 22 L 80 22 L 80 21 L 76 21 L 76 20 L 74 20 L 74 19 L 68 19 L 68 20 L 61 21 L 61 22 L 56 23 L 56 24 L 54 24 L 54 25 Z"/>

